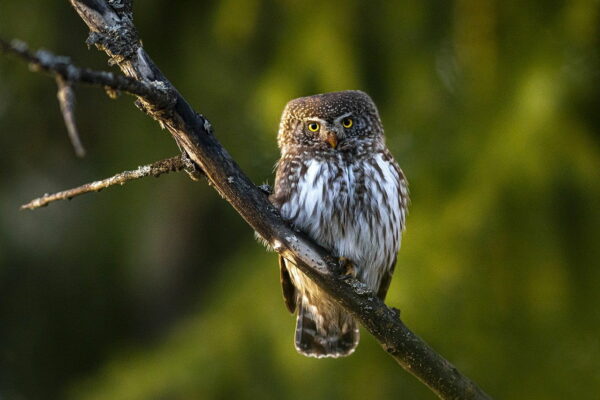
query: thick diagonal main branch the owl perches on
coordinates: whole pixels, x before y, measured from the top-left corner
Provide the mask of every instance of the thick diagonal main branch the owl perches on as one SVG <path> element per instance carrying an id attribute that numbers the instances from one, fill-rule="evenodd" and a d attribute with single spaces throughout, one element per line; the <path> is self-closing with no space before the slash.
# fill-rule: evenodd
<path id="1" fill-rule="evenodd" d="M 130 10 L 130 1 L 69 1 L 90 28 L 88 43 L 108 54 L 130 78 L 128 84 L 133 85 L 133 80 L 144 89 L 129 90 L 140 97 L 140 108 L 169 130 L 202 168 L 209 183 L 275 251 L 292 259 L 351 312 L 404 369 L 440 398 L 489 399 L 474 382 L 411 332 L 396 310 L 388 308 L 363 283 L 345 277 L 336 259 L 281 219 L 264 192 L 248 179 L 214 137 L 208 120 L 193 110 L 146 54 L 131 13 L 123 10 L 125 6 Z M 172 102 L 162 101 L 165 92 L 172 95 Z"/>

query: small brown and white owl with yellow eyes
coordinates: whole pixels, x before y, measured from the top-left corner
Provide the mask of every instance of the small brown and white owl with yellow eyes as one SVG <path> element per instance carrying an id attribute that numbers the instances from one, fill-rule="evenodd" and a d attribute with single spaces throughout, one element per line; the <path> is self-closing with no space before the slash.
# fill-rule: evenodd
<path id="1" fill-rule="evenodd" d="M 282 218 L 339 257 L 384 299 L 408 204 L 404 174 L 385 146 L 377 107 L 348 90 L 290 101 L 281 117 L 272 203 Z M 298 312 L 295 346 L 309 357 L 342 357 L 358 345 L 352 315 L 291 260 L 279 258 L 284 300 Z"/>

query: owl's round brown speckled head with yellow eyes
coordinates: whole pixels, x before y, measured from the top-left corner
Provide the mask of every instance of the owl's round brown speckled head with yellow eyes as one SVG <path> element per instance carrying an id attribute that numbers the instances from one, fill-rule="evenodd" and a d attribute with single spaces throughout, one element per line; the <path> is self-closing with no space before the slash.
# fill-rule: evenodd
<path id="1" fill-rule="evenodd" d="M 368 94 L 359 90 L 317 94 L 287 103 L 278 143 L 283 151 L 351 151 L 383 146 L 383 127 Z"/>

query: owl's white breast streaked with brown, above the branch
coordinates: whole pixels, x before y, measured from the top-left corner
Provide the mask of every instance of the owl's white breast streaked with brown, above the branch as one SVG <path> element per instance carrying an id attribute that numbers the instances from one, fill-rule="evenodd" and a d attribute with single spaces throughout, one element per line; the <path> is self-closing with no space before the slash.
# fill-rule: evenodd
<path id="1" fill-rule="evenodd" d="M 311 159 L 294 172 L 285 177 L 293 185 L 280 206 L 282 217 L 352 260 L 369 286 L 378 285 L 369 272 L 391 267 L 404 221 L 397 168 L 382 155 L 354 161 L 340 155 Z"/>

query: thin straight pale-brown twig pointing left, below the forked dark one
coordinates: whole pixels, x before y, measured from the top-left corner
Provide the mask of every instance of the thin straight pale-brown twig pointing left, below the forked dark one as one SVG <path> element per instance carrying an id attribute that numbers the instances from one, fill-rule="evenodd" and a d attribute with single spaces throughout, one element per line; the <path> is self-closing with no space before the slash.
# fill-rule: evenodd
<path id="1" fill-rule="evenodd" d="M 37 199 L 31 200 L 29 203 L 22 205 L 21 210 L 35 210 L 36 208 L 45 207 L 57 200 L 71 200 L 73 197 L 77 197 L 85 193 L 99 192 L 109 186 L 124 185 L 128 181 L 145 178 L 147 176 L 158 177 L 169 172 L 181 171 L 185 167 L 185 162 L 181 156 L 166 158 L 164 160 L 153 162 L 152 164 L 138 167 L 133 171 L 124 171 L 118 173 L 101 181 L 86 183 L 85 185 L 78 186 L 73 189 L 63 190 L 62 192 L 58 193 L 45 194 L 42 197 L 38 197 Z"/>

